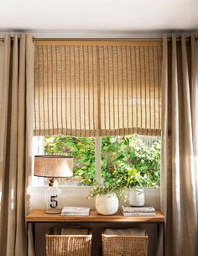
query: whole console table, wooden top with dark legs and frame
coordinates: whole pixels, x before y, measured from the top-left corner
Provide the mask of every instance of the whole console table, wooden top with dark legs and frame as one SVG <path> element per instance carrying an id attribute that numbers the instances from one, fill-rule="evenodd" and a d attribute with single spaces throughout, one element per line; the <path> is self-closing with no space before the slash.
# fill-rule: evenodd
<path id="1" fill-rule="evenodd" d="M 103 226 L 107 224 L 125 224 L 128 227 L 133 227 L 133 223 L 153 223 L 159 228 L 162 229 L 163 232 L 163 255 L 165 255 L 165 243 L 164 243 L 164 215 L 160 211 L 156 211 L 155 216 L 122 216 L 121 212 L 117 212 L 116 215 L 113 216 L 102 216 L 97 214 L 96 211 L 91 211 L 90 216 L 60 216 L 60 214 L 46 214 L 44 210 L 35 209 L 29 212 L 29 215 L 26 216 L 27 221 L 27 235 L 29 234 L 29 224 L 33 225 L 33 239 L 35 245 L 35 226 L 39 223 L 73 223 L 73 224 L 81 224 L 87 223 L 91 225 L 96 225 L 97 223 L 102 223 Z M 29 238 L 29 237 L 28 237 Z"/>

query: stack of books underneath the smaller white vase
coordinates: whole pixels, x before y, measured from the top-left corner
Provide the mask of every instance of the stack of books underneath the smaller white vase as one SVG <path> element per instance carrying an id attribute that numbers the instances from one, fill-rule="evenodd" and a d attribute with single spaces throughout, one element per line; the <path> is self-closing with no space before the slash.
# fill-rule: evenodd
<path id="1" fill-rule="evenodd" d="M 151 205 L 142 207 L 135 206 L 121 206 L 123 216 L 155 216 L 155 209 Z"/>

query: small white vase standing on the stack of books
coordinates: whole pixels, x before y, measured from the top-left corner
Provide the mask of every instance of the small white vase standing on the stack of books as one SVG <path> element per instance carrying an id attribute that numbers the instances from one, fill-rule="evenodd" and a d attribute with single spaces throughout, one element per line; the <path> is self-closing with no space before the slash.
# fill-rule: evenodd
<path id="1" fill-rule="evenodd" d="M 144 190 L 138 188 L 132 188 L 129 190 L 129 204 L 132 206 L 144 205 Z"/>

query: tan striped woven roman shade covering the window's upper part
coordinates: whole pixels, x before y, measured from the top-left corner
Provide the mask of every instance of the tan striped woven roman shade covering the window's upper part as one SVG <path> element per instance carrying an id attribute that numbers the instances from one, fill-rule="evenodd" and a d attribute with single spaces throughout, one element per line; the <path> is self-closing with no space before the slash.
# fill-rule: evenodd
<path id="1" fill-rule="evenodd" d="M 34 134 L 159 135 L 160 41 L 36 42 Z"/>

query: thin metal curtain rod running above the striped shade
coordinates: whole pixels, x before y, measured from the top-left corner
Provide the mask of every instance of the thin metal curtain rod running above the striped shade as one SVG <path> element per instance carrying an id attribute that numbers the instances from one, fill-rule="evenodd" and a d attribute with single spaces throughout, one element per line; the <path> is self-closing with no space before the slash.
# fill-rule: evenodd
<path id="1" fill-rule="evenodd" d="M 195 40 L 198 39 L 198 36 L 195 36 Z M 11 40 L 13 40 L 13 36 L 11 37 Z M 39 37 L 33 37 L 34 41 L 113 41 L 113 40 L 124 40 L 124 41 L 162 41 L 162 38 L 39 38 Z M 169 37 L 169 41 L 172 39 Z M 177 41 L 180 41 L 180 37 L 177 38 Z M 186 37 L 186 40 L 190 40 L 190 36 Z M 0 41 L 3 42 L 4 38 L 0 38 Z"/>

